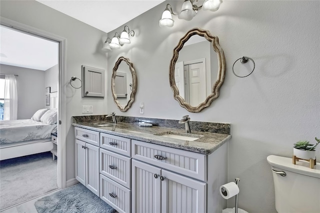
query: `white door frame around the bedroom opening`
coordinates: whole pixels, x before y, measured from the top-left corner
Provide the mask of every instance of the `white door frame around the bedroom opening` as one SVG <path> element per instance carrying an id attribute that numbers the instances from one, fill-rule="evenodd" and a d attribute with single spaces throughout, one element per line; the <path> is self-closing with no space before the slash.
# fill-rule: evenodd
<path id="1" fill-rule="evenodd" d="M 0 24 L 5 25 L 7 27 L 17 29 L 20 31 L 23 31 L 27 34 L 31 34 L 34 36 L 39 36 L 42 38 L 46 38 L 52 41 L 58 42 L 58 53 L 59 53 L 59 62 L 58 62 L 58 67 L 59 67 L 59 77 L 58 77 L 58 171 L 57 171 L 57 176 L 58 176 L 58 188 L 65 188 L 66 187 L 66 96 L 65 93 L 62 91 L 65 91 L 65 85 L 63 82 L 65 82 L 65 60 L 66 60 L 66 55 L 65 55 L 65 48 L 66 48 L 66 38 L 55 35 L 53 33 L 37 29 L 35 27 L 5 18 L 1 17 L 0 18 Z"/>

